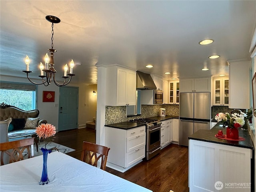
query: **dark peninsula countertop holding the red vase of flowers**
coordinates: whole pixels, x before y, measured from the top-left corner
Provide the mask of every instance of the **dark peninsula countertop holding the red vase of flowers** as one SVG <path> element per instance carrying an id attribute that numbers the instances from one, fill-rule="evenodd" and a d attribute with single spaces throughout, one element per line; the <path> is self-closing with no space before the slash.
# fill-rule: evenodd
<path id="1" fill-rule="evenodd" d="M 252 139 L 248 130 L 239 129 L 239 136 L 245 138 L 244 141 L 230 141 L 226 139 L 216 138 L 215 135 L 218 133 L 218 130 L 223 130 L 223 134 L 226 134 L 226 128 L 219 126 L 220 124 L 221 122 L 216 124 L 211 130 L 198 130 L 197 132 L 189 136 L 188 139 L 254 149 Z"/>

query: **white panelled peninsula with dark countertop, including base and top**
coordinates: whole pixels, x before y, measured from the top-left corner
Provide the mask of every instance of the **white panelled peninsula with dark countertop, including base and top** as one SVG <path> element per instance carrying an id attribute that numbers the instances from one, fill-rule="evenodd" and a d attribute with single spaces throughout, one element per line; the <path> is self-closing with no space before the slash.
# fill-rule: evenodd
<path id="1" fill-rule="evenodd" d="M 248 130 L 239 130 L 244 141 L 220 139 L 215 137 L 218 130 L 226 134 L 220 124 L 188 137 L 190 191 L 216 191 L 221 185 L 225 192 L 254 191 L 254 146 Z"/>

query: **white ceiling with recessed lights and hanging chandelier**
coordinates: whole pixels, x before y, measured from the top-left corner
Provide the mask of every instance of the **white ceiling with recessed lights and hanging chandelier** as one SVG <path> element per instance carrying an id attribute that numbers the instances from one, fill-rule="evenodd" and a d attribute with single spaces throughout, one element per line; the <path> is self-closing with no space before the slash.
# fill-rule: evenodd
<path id="1" fill-rule="evenodd" d="M 166 79 L 228 75 L 228 60 L 250 60 L 256 1 L 0 1 L 0 74 L 40 75 L 54 24 L 56 76 L 74 62 L 72 82 L 97 83 L 95 64 L 120 64 Z M 211 38 L 210 45 L 199 45 Z M 208 57 L 218 54 L 220 58 Z M 146 68 L 152 64 L 153 68 Z M 242 67 L 242 66 L 241 66 Z M 209 68 L 202 71 L 202 68 Z M 164 74 L 170 72 L 171 74 Z"/>

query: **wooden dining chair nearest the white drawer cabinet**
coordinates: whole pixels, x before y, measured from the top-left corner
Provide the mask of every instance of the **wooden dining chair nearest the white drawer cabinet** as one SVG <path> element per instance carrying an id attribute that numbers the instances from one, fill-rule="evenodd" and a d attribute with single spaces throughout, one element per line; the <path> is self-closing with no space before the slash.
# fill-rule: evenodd
<path id="1" fill-rule="evenodd" d="M 105 170 L 109 150 L 108 147 L 84 141 L 81 161 L 97 167 L 98 160 L 101 159 L 100 169 Z"/>

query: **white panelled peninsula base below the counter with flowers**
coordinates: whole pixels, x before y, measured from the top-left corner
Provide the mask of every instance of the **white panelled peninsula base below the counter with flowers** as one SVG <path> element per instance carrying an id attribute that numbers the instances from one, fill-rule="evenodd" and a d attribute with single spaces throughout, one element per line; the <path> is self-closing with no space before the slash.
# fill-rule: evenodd
<path id="1" fill-rule="evenodd" d="M 190 139 L 188 150 L 190 192 L 217 192 L 216 182 L 223 184 L 220 191 L 251 191 L 249 187 L 226 187 L 252 182 L 250 149 Z"/>

